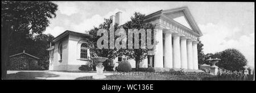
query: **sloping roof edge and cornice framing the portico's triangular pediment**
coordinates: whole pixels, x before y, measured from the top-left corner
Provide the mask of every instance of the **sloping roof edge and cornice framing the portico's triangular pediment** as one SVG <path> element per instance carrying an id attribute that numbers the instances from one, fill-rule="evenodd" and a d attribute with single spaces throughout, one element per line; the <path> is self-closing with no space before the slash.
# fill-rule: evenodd
<path id="1" fill-rule="evenodd" d="M 172 14 L 174 12 L 179 12 L 179 11 L 183 11 L 184 12 L 184 15 L 188 19 L 188 23 L 191 24 L 191 27 L 192 27 L 193 31 L 196 31 L 196 32 L 193 32 L 193 33 L 196 33 L 199 36 L 203 36 L 203 33 L 200 31 L 199 27 L 197 26 L 197 23 L 195 22 L 195 19 L 193 18 L 191 12 L 188 10 L 187 6 L 178 7 L 178 8 L 169 9 L 169 10 L 159 10 L 159 11 L 153 12 L 152 14 L 146 15 L 144 21 L 148 21 L 148 20 L 152 20 L 152 19 L 155 19 L 155 18 L 159 18 L 160 16 L 162 16 L 164 18 L 168 18 L 166 16 L 167 14 Z M 187 28 L 187 27 L 183 26 L 182 24 L 174 21 L 171 18 L 168 18 L 168 20 L 178 24 L 180 27 Z"/>

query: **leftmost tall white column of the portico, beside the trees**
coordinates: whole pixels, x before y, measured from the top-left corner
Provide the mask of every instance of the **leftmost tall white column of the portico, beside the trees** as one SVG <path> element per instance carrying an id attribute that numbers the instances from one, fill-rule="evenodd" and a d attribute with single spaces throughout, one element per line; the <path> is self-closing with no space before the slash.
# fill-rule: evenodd
<path id="1" fill-rule="evenodd" d="M 156 29 L 154 67 L 163 68 L 163 29 Z"/>

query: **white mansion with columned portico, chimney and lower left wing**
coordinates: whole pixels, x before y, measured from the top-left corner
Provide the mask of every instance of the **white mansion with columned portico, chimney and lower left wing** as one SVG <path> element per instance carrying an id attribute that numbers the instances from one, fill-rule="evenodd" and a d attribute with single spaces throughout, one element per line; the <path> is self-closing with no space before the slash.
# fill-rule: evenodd
<path id="1" fill-rule="evenodd" d="M 122 24 L 122 12 L 110 16 L 114 23 Z M 198 68 L 197 39 L 202 36 L 195 19 L 188 7 L 160 10 L 146 15 L 144 22 L 155 24 L 158 41 L 154 55 L 148 55 L 139 67 L 159 69 L 193 69 Z M 121 25 L 119 25 L 121 26 Z M 86 41 L 90 35 L 73 31 L 65 31 L 52 40 L 49 51 L 49 70 L 79 70 L 81 65 L 89 62 L 90 52 Z M 114 59 L 115 66 L 126 56 Z M 135 67 L 135 60 L 127 60 Z"/>

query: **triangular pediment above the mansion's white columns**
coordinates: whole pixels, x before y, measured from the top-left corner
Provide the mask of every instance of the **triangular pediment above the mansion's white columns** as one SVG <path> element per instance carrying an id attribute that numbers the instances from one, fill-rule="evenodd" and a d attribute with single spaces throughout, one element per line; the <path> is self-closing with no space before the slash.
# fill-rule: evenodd
<path id="1" fill-rule="evenodd" d="M 191 29 L 191 31 L 202 35 L 199 27 L 193 19 L 193 16 L 189 12 L 188 7 L 179 7 L 176 9 L 163 10 L 162 14 L 164 14 L 169 19 L 175 20 L 175 22 L 181 24 L 182 26 Z"/>

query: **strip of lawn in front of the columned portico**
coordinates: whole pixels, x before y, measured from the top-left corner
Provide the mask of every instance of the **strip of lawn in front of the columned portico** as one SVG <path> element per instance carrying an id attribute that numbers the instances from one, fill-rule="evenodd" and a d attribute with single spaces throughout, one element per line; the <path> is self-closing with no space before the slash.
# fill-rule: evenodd
<path id="1" fill-rule="evenodd" d="M 212 78 L 214 75 L 208 73 L 150 73 L 150 72 L 129 72 L 115 73 L 108 75 L 102 80 L 178 80 L 178 81 L 201 81 L 204 78 Z M 93 80 L 92 77 L 80 77 L 77 80 Z"/>

